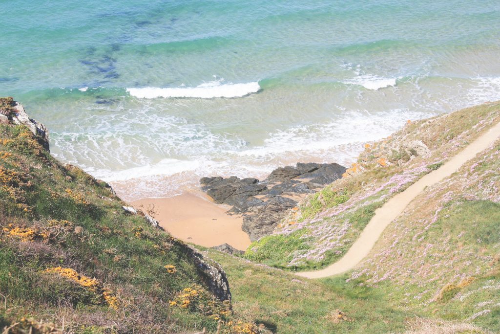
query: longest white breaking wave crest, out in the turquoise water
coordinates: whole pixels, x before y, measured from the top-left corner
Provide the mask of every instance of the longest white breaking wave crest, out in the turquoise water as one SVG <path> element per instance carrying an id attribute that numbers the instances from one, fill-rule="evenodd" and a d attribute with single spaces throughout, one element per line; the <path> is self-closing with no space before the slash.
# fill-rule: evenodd
<path id="1" fill-rule="evenodd" d="M 258 82 L 246 84 L 222 83 L 221 80 L 203 83 L 197 87 L 176 87 L 176 88 L 127 88 L 126 91 L 133 97 L 139 99 L 155 98 L 236 98 L 260 90 Z"/>

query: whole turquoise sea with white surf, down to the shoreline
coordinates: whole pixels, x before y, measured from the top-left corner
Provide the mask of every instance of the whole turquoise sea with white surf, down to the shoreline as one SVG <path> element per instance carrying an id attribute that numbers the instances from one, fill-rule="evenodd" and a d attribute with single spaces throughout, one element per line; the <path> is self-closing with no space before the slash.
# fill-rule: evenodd
<path id="1" fill-rule="evenodd" d="M 0 95 L 127 199 L 500 99 L 500 2 L 0 0 Z"/>

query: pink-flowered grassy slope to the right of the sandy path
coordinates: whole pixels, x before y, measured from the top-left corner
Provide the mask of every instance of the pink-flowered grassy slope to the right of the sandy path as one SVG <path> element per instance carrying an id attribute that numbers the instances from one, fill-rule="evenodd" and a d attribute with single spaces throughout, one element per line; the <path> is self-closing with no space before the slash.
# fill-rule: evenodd
<path id="1" fill-rule="evenodd" d="M 404 307 L 500 332 L 500 140 L 425 189 L 351 277 Z"/>

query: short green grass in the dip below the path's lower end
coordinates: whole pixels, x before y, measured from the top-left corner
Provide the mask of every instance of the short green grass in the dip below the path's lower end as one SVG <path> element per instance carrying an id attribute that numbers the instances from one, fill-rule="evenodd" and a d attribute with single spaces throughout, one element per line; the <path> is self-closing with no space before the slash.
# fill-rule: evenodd
<path id="1" fill-rule="evenodd" d="M 345 275 L 308 280 L 214 250 L 209 256 L 228 275 L 234 310 L 252 314 L 276 333 L 400 332 L 417 316 L 391 305 L 387 295 L 362 280 L 347 283 Z M 328 315 L 336 309 L 348 320 L 332 321 Z"/>

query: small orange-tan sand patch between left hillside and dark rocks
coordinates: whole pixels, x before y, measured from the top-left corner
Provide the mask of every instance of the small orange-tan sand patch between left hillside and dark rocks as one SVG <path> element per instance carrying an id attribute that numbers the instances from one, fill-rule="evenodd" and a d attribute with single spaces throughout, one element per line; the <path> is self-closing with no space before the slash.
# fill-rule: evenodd
<path id="1" fill-rule="evenodd" d="M 145 198 L 130 204 L 144 212 L 149 205 L 154 205 L 155 219 L 160 226 L 185 242 L 205 247 L 228 243 L 240 250 L 245 250 L 250 244 L 248 235 L 241 230 L 242 217 L 226 214 L 229 206 L 213 203 L 202 192 Z"/>

